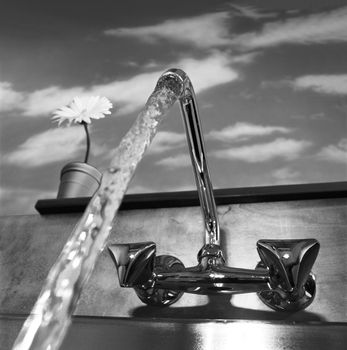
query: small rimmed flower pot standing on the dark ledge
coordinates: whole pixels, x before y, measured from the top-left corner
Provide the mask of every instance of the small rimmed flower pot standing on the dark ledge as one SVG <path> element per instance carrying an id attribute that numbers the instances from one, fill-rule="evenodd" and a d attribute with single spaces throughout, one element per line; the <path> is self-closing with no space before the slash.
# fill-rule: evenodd
<path id="1" fill-rule="evenodd" d="M 68 163 L 61 170 L 57 198 L 90 197 L 98 189 L 102 174 L 87 163 Z"/>

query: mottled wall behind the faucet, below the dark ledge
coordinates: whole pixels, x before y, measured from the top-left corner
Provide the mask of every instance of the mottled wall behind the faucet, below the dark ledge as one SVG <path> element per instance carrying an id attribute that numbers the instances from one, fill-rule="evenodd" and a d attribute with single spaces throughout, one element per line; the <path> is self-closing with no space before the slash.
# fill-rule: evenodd
<path id="1" fill-rule="evenodd" d="M 164 319 L 243 319 L 267 321 L 347 320 L 347 199 L 242 204 L 218 207 L 227 265 L 254 268 L 262 238 L 316 238 L 321 250 L 314 265 L 317 295 L 295 314 L 277 313 L 255 294 L 185 294 L 168 308 L 145 306 L 132 289 L 119 288 L 115 266 L 105 250 L 85 286 L 76 315 L 160 317 Z M 43 281 L 79 215 L 9 216 L 0 219 L 0 313 L 28 314 Z M 109 243 L 154 241 L 157 255 L 196 265 L 203 243 L 200 208 L 121 211 Z"/>

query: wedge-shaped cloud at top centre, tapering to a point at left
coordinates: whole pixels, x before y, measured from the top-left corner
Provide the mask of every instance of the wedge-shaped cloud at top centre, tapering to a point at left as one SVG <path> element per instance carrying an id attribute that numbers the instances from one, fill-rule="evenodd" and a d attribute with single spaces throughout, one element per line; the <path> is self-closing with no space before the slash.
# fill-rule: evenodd
<path id="1" fill-rule="evenodd" d="M 190 18 L 167 20 L 157 25 L 108 29 L 106 35 L 133 37 L 155 43 L 159 39 L 211 48 L 230 44 L 228 12 L 216 12 Z"/>

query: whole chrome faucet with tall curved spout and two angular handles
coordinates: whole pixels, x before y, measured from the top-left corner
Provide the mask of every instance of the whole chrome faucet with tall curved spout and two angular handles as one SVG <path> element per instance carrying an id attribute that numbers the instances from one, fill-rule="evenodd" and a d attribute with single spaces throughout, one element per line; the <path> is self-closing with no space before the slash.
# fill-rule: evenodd
<path id="1" fill-rule="evenodd" d="M 179 69 L 166 71 L 158 85 L 179 87 L 179 102 L 205 225 L 205 244 L 198 264 L 185 268 L 176 257 L 156 256 L 153 242 L 112 244 L 109 252 L 122 287 L 135 289 L 142 302 L 170 305 L 183 293 L 239 294 L 256 292 L 275 310 L 297 311 L 315 297 L 311 268 L 319 252 L 315 239 L 260 240 L 256 268 L 225 265 L 220 229 L 206 160 L 196 97 L 190 79 Z"/>

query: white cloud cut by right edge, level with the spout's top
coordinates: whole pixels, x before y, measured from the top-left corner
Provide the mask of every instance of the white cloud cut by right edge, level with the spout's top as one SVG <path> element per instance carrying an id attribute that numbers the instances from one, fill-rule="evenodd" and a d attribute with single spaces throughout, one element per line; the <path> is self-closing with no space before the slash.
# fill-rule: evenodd
<path id="1" fill-rule="evenodd" d="M 290 82 L 290 85 L 299 90 L 310 89 L 323 94 L 346 95 L 347 74 L 304 75 Z"/>

